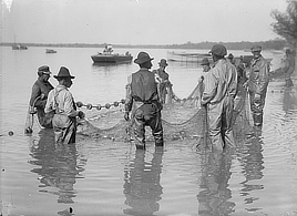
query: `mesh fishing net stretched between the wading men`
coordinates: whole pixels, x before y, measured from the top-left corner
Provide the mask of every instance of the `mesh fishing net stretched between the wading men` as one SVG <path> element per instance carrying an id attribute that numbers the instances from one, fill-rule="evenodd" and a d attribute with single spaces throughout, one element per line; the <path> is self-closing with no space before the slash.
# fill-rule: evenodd
<path id="1" fill-rule="evenodd" d="M 164 140 L 196 140 L 197 145 L 209 146 L 211 141 L 207 134 L 206 109 L 199 106 L 199 86 L 197 92 L 192 92 L 187 99 L 180 100 L 173 94 L 172 103 L 164 104 L 162 110 L 162 123 Z M 234 109 L 234 133 L 237 142 L 245 138 L 245 134 L 250 130 L 250 117 L 247 93 L 242 88 L 235 99 Z M 111 138 L 113 141 L 130 141 L 130 122 L 124 116 L 124 106 L 119 105 L 111 110 L 86 110 L 89 119 L 79 124 L 79 133 L 93 138 Z M 146 141 L 153 141 L 150 127 L 146 127 Z"/>

